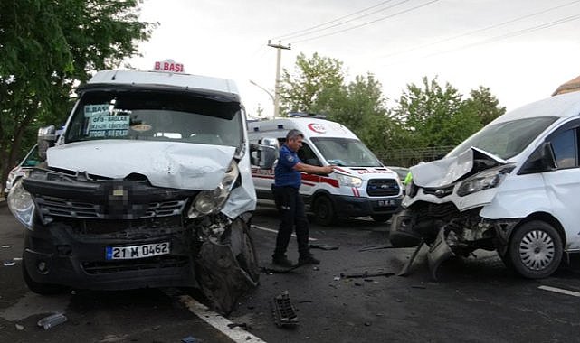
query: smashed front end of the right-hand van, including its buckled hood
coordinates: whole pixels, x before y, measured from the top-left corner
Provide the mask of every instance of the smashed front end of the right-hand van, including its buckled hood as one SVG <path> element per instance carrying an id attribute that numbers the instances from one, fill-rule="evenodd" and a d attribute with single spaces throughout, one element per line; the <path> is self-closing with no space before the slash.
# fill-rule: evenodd
<path id="1" fill-rule="evenodd" d="M 505 254 L 508 236 L 518 220 L 480 217 L 497 187 L 514 165 L 471 148 L 456 158 L 412 168 L 404 210 L 392 221 L 393 246 L 429 246 L 427 260 L 433 279 L 442 262 L 469 256 L 477 249 Z M 437 177 L 437 174 L 439 177 Z"/>

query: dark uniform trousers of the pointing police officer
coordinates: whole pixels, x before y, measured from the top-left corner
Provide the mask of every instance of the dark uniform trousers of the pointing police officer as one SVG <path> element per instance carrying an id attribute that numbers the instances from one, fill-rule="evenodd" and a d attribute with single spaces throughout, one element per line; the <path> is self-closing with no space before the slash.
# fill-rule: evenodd
<path id="1" fill-rule="evenodd" d="M 304 210 L 304 201 L 300 197 L 298 189 L 291 186 L 276 187 L 272 185 L 272 192 L 281 217 L 274 257 L 286 254 L 294 227 L 296 227 L 296 240 L 300 256 L 309 255 L 309 222 Z"/>

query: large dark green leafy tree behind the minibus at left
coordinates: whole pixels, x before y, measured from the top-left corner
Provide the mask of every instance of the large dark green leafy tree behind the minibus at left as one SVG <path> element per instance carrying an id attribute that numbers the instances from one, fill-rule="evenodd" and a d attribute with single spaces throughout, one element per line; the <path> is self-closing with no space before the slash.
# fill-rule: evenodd
<path id="1" fill-rule="evenodd" d="M 63 123 L 72 89 L 90 71 L 137 54 L 153 23 L 138 0 L 0 2 L 0 176 L 32 146 L 37 128 Z"/>

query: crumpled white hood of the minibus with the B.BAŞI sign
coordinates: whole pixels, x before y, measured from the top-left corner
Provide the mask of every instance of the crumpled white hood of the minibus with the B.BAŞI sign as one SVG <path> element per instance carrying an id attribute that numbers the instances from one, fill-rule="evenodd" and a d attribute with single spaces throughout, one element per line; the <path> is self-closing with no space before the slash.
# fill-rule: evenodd
<path id="1" fill-rule="evenodd" d="M 214 190 L 233 159 L 232 146 L 155 141 L 88 141 L 47 151 L 49 167 L 112 179 L 147 176 L 153 186 Z"/>

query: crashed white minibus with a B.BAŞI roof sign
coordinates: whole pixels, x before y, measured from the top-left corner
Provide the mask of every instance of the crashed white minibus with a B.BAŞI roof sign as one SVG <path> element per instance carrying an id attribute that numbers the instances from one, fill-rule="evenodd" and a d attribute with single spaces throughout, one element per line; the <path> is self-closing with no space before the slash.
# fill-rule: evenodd
<path id="1" fill-rule="evenodd" d="M 77 93 L 64 132 L 39 131 L 42 168 L 7 198 L 26 227 L 28 287 L 199 287 L 215 310 L 232 311 L 260 273 L 251 145 L 233 81 L 103 70 Z M 271 168 L 275 149 L 252 148 L 263 157 L 252 164 Z"/>

